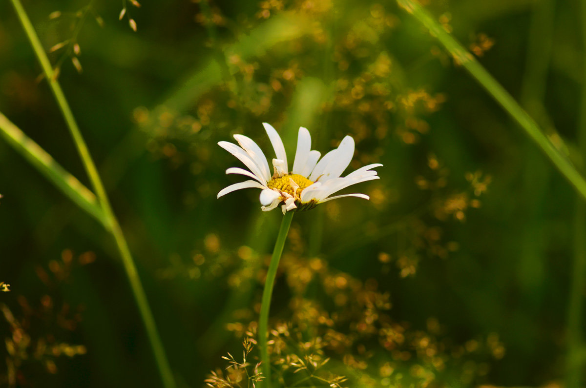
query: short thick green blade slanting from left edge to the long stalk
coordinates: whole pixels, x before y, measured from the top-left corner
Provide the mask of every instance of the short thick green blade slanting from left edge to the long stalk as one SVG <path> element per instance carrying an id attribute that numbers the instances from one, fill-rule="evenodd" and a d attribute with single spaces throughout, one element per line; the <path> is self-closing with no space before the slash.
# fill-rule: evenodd
<path id="1" fill-rule="evenodd" d="M 75 176 L 65 171 L 51 155 L 47 154 L 2 113 L 0 113 L 0 136 L 81 209 L 86 210 L 99 223 L 106 225 L 104 212 L 94 193 L 78 181 Z"/>

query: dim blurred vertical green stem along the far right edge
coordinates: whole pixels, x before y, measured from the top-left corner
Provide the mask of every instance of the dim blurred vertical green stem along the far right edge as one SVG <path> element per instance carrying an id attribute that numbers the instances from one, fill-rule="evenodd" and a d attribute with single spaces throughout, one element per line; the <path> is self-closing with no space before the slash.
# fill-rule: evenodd
<path id="1" fill-rule="evenodd" d="M 582 55 L 586 59 L 586 2 L 580 1 L 580 23 L 582 33 Z M 584 67 L 586 77 L 586 67 Z M 586 80 L 586 78 L 584 78 Z M 586 83 L 582 82 L 580 121 L 578 123 L 578 149 L 586 155 Z M 582 334 L 582 314 L 584 312 L 584 288 L 586 286 L 586 205 L 581 198 L 576 199 L 574 211 L 574 263 L 568 305 L 568 335 L 565 384 L 568 388 L 582 386 L 584 345 Z"/>

